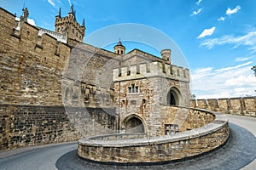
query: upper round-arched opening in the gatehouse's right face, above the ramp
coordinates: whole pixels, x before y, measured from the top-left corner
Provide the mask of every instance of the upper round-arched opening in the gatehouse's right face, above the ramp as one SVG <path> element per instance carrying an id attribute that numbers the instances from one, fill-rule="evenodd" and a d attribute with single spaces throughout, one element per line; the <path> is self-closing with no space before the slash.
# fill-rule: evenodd
<path id="1" fill-rule="evenodd" d="M 181 94 L 177 88 L 170 88 L 167 94 L 167 105 L 182 105 L 181 104 Z"/>

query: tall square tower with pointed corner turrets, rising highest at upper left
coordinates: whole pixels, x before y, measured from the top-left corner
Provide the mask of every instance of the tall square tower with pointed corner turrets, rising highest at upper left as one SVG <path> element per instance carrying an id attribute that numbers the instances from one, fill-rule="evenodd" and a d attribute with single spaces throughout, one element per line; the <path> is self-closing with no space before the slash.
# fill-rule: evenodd
<path id="1" fill-rule="evenodd" d="M 76 20 L 76 14 L 73 10 L 73 5 L 70 7 L 66 17 L 61 17 L 61 8 L 55 17 L 55 31 L 58 33 L 67 33 L 67 40 L 83 42 L 85 35 L 84 20 L 80 26 Z M 70 41 L 67 41 L 70 42 Z"/>

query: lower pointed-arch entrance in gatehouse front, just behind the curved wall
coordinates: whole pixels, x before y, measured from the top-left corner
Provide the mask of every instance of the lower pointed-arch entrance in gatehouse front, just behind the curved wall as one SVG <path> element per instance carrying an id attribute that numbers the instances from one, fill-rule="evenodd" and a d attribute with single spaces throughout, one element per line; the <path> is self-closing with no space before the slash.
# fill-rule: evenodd
<path id="1" fill-rule="evenodd" d="M 132 116 L 125 122 L 125 133 L 145 133 L 143 122 L 137 116 Z"/>

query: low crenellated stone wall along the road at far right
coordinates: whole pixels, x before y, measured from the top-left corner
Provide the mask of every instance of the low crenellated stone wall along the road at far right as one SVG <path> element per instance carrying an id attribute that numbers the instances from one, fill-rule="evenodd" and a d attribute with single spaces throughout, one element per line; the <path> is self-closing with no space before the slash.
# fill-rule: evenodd
<path id="1" fill-rule="evenodd" d="M 224 114 L 256 116 L 255 96 L 226 99 L 196 99 L 190 101 L 190 106 L 209 111 L 218 111 Z"/>

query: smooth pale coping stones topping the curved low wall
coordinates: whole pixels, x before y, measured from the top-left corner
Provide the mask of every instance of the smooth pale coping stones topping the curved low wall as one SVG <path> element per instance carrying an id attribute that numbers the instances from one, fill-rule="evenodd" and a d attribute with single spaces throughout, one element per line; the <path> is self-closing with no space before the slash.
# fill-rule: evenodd
<path id="1" fill-rule="evenodd" d="M 180 108 L 185 108 L 185 107 L 180 107 Z M 226 123 L 228 123 L 227 117 L 217 112 L 207 111 L 203 109 L 195 109 L 195 108 L 187 108 L 187 109 L 210 113 L 215 116 L 215 120 L 203 127 L 198 127 L 189 131 L 181 132 L 181 133 L 175 133 L 175 134 L 165 135 L 160 137 L 153 137 L 151 139 L 143 138 L 143 139 L 119 139 L 119 140 L 96 140 L 96 139 L 92 140 L 91 138 L 96 138 L 96 137 L 90 137 L 87 139 L 80 139 L 79 144 L 90 145 L 90 146 L 102 146 L 102 147 L 113 147 L 113 146 L 129 147 L 129 146 L 143 146 L 148 144 L 165 144 L 165 143 L 177 142 L 180 140 L 187 140 L 187 139 L 195 139 L 201 136 L 205 136 L 209 133 L 218 131 L 219 129 L 224 127 Z M 113 135 L 117 135 L 117 134 L 113 134 Z M 125 135 L 125 133 L 123 133 L 122 135 Z M 105 136 L 107 137 L 109 136 L 109 134 Z"/>

